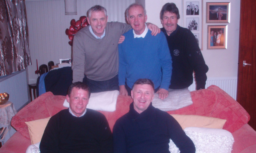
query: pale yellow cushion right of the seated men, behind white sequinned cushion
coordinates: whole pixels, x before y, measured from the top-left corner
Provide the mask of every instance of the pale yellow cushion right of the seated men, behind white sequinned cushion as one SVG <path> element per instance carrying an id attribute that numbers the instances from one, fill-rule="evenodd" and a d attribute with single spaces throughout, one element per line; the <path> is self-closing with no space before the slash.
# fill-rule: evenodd
<path id="1" fill-rule="evenodd" d="M 170 114 L 174 117 L 182 129 L 186 127 L 204 127 L 204 128 L 223 128 L 226 120 L 214 117 L 206 117 L 200 115 L 178 115 Z"/>

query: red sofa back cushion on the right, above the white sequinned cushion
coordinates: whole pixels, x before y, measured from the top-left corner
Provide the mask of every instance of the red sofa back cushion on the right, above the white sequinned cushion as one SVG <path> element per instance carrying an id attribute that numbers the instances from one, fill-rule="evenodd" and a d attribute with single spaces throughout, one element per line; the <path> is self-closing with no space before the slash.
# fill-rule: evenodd
<path id="1" fill-rule="evenodd" d="M 230 95 L 215 85 L 190 92 L 193 104 L 169 114 L 201 115 L 226 119 L 223 129 L 233 133 L 248 123 L 250 116 Z"/>

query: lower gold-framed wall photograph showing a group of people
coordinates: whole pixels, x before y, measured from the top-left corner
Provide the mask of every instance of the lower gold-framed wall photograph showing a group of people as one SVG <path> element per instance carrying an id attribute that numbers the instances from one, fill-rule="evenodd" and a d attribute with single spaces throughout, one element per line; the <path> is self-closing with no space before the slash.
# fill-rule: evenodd
<path id="1" fill-rule="evenodd" d="M 227 25 L 208 25 L 207 49 L 227 49 Z"/>

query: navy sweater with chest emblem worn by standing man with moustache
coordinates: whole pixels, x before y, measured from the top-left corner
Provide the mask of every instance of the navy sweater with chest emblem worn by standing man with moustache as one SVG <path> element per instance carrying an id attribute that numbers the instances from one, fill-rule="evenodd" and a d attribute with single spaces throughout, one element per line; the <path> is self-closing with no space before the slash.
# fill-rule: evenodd
<path id="1" fill-rule="evenodd" d="M 187 28 L 177 25 L 177 29 L 167 35 L 164 32 L 172 56 L 172 78 L 170 89 L 183 89 L 193 83 L 193 72 L 197 81 L 197 90 L 205 89 L 208 66 L 193 33 Z"/>

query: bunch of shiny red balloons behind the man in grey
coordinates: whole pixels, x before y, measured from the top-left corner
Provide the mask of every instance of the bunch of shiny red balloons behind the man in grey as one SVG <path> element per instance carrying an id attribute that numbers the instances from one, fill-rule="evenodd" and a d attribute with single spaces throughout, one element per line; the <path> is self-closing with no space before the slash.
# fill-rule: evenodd
<path id="1" fill-rule="evenodd" d="M 73 38 L 74 38 L 74 35 L 77 33 L 77 31 L 79 31 L 80 29 L 84 28 L 85 26 L 88 26 L 89 23 L 87 21 L 87 17 L 86 16 L 81 16 L 79 18 L 79 20 L 74 20 L 72 19 L 70 21 L 70 27 L 69 29 L 66 29 L 65 33 L 66 35 L 68 35 L 68 39 L 70 40 L 68 42 L 68 44 L 70 46 L 73 45 Z"/>

